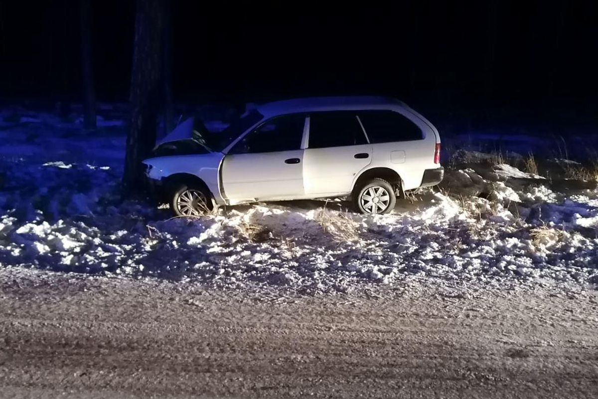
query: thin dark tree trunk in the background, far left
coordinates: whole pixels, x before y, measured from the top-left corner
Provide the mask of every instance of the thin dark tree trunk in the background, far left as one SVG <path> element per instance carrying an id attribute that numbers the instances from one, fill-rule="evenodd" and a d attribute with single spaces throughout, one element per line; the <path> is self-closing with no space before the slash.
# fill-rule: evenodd
<path id="1" fill-rule="evenodd" d="M 96 90 L 91 65 L 91 0 L 80 0 L 81 61 L 83 63 L 83 127 L 96 129 Z"/>

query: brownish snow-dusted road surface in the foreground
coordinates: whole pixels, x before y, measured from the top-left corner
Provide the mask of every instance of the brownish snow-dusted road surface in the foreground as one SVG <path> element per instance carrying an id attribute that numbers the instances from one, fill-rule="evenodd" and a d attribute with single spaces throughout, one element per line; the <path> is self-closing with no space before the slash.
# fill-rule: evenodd
<path id="1" fill-rule="evenodd" d="M 2 398 L 598 397 L 598 296 L 270 299 L 0 273 Z"/>

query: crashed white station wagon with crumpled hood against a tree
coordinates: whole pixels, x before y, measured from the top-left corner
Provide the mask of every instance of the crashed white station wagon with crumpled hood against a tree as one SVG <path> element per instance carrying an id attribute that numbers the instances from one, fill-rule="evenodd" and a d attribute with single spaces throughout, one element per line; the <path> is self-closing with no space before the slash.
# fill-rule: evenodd
<path id="1" fill-rule="evenodd" d="M 144 160 L 177 215 L 214 204 L 349 197 L 385 214 L 405 190 L 438 184 L 438 130 L 383 97 L 305 98 L 246 112 L 219 133 L 190 118 Z"/>

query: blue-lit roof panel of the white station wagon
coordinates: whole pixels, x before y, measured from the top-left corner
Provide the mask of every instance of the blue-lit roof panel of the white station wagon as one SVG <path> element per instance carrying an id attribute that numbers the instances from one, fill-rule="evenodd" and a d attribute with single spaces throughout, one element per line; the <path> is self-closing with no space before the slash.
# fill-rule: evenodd
<path id="1" fill-rule="evenodd" d="M 382 96 L 310 97 L 265 103 L 257 107 L 264 117 L 296 112 L 343 111 L 350 109 L 392 109 L 409 107 L 396 99 Z"/>

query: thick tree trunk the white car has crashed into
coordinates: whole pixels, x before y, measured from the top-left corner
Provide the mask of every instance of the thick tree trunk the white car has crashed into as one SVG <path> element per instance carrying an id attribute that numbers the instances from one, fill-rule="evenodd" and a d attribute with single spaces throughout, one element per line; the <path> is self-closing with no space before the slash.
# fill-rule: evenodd
<path id="1" fill-rule="evenodd" d="M 160 111 L 164 1 L 137 0 L 130 93 L 131 126 L 123 176 L 124 186 L 129 192 L 141 187 L 141 161 L 149 156 L 155 145 Z"/>

